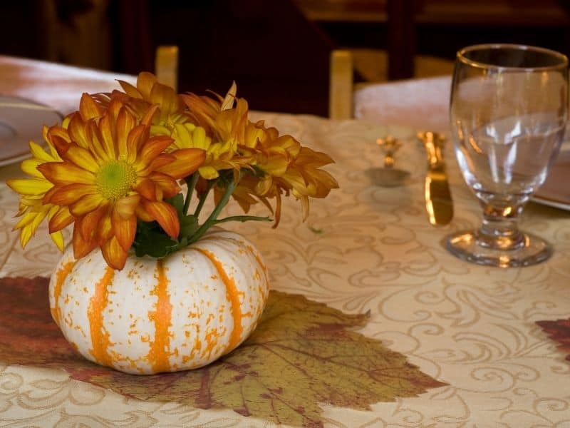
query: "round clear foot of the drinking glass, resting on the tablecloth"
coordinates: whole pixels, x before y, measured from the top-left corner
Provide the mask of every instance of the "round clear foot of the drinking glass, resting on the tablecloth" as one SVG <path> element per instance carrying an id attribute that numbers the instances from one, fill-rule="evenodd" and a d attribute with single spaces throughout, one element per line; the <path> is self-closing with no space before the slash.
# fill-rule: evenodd
<path id="1" fill-rule="evenodd" d="M 519 267 L 536 265 L 552 255 L 552 248 L 545 240 L 524 233 L 524 245 L 514 250 L 497 250 L 477 244 L 475 230 L 463 230 L 445 238 L 445 248 L 456 257 L 477 265 Z"/>

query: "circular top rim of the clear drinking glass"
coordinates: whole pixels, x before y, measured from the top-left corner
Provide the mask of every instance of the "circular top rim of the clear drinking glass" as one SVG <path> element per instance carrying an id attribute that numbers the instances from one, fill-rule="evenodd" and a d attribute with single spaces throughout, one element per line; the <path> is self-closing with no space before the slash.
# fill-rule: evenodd
<path id="1" fill-rule="evenodd" d="M 498 64 L 494 63 L 485 63 L 482 61 L 474 61 L 470 58 L 467 58 L 465 54 L 468 54 L 472 51 L 482 51 L 484 49 L 492 50 L 492 49 L 518 49 L 520 51 L 534 51 L 540 52 L 541 54 L 548 54 L 553 56 L 554 58 L 559 59 L 559 63 L 556 63 L 551 66 L 537 66 L 537 67 L 517 67 L 517 66 L 499 66 Z M 477 44 L 472 46 L 466 46 L 465 48 L 460 49 L 457 51 L 457 61 L 462 63 L 468 64 L 473 67 L 477 68 L 496 68 L 497 70 L 504 70 L 504 71 L 555 71 L 555 70 L 563 70 L 564 68 L 568 68 L 568 57 L 566 55 L 561 54 L 558 51 L 554 51 L 553 49 L 548 48 L 541 48 L 540 46 L 529 46 L 523 44 L 508 44 L 508 43 L 489 43 L 489 44 Z"/>

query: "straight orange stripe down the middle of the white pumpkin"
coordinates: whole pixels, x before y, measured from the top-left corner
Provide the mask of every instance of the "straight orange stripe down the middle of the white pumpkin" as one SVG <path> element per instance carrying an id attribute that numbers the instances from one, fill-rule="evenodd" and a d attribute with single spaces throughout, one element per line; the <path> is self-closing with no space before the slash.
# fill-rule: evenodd
<path id="1" fill-rule="evenodd" d="M 168 330 L 172 325 L 172 304 L 168 293 L 170 281 L 165 274 L 162 260 L 157 260 L 155 277 L 158 282 L 150 294 L 157 297 L 156 310 L 148 314 L 150 320 L 155 323 L 155 340 L 150 343 L 147 359 L 152 365 L 153 372 L 158 373 L 170 371 L 170 362 L 168 361 L 168 357 L 170 357 L 170 333 Z"/>

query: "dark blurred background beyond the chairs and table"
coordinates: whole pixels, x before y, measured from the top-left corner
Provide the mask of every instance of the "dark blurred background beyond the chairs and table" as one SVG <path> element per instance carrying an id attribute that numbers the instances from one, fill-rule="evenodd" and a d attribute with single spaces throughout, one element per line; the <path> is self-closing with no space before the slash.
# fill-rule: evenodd
<path id="1" fill-rule="evenodd" d="M 136 74 L 180 48 L 179 90 L 256 110 L 328 112 L 329 58 L 355 80 L 452 72 L 457 49 L 510 42 L 570 53 L 567 0 L 19 0 L 0 6 L 0 54 Z"/>

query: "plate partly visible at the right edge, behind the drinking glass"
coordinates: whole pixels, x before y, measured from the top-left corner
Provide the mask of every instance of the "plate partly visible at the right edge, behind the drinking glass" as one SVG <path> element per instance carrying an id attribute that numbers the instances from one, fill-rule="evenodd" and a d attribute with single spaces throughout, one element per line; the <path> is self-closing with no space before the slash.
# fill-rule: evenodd
<path id="1" fill-rule="evenodd" d="M 570 149 L 564 146 L 550 167 L 544 184 L 537 190 L 532 200 L 554 208 L 570 210 Z"/>

